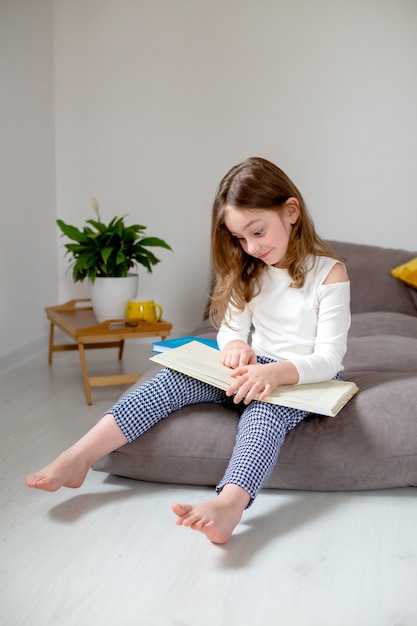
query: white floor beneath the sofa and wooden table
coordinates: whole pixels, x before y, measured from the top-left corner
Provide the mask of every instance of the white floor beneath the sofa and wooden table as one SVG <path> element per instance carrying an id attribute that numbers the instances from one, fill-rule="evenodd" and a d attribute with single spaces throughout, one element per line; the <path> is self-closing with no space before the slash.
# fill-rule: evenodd
<path id="1" fill-rule="evenodd" d="M 140 369 L 147 355 L 127 346 L 124 366 Z M 113 351 L 87 358 L 92 373 L 117 366 Z M 415 489 L 268 490 L 224 547 L 178 528 L 170 511 L 175 500 L 211 497 L 209 488 L 92 471 L 77 491 L 27 489 L 25 474 L 120 392 L 94 389 L 88 407 L 76 353 L 0 377 L 2 625 L 417 624 Z"/>

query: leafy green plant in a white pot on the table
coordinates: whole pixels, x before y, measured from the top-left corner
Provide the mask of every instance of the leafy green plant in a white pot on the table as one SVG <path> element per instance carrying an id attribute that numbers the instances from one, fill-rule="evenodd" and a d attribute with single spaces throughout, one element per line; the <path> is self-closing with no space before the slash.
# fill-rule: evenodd
<path id="1" fill-rule="evenodd" d="M 74 282 L 89 279 L 94 313 L 99 322 L 125 316 L 126 304 L 137 295 L 138 275 L 129 272 L 143 265 L 148 272 L 160 262 L 148 248 L 171 250 L 159 237 L 146 237 L 146 226 L 127 226 L 125 216 L 114 217 L 108 224 L 101 221 L 99 204 L 92 198 L 97 219 L 87 220 L 79 229 L 58 219 L 66 243 L 66 255 L 71 257 Z M 122 280 L 123 279 L 123 280 Z M 108 289 L 111 289 L 110 295 Z"/>

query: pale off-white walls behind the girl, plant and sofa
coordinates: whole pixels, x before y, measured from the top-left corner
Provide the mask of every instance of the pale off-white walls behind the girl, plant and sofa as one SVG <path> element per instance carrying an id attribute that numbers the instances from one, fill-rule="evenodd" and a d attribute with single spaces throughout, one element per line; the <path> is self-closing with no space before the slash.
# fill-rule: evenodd
<path id="1" fill-rule="evenodd" d="M 0 37 L 12 94 L 0 148 L 9 225 L 0 234 L 2 265 L 5 252 L 16 258 L 16 245 L 25 251 L 0 280 L 15 282 L 26 270 L 31 277 L 7 299 L 5 313 L 2 303 L 0 355 L 43 337 L 45 305 L 86 295 L 68 274 L 54 220 L 82 225 L 91 216 L 90 196 L 99 198 L 103 219 L 128 213 L 173 246 L 173 253 L 161 251 L 153 275 L 142 273 L 140 295 L 162 304 L 177 334 L 199 322 L 205 303 L 215 188 L 247 156 L 287 171 L 323 236 L 417 248 L 414 1 L 0 6 L 13 18 Z M 23 293 L 36 294 L 30 328 L 15 315 Z"/>

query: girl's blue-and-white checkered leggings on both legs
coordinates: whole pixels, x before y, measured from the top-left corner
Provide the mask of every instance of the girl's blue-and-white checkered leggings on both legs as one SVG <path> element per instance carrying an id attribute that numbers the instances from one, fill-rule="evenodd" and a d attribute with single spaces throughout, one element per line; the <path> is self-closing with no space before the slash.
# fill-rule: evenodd
<path id="1" fill-rule="evenodd" d="M 259 357 L 259 362 L 272 359 Z M 112 413 L 129 442 L 183 406 L 228 401 L 220 389 L 170 369 L 136 387 L 114 404 Z M 244 406 L 244 405 L 243 405 Z M 233 483 L 250 495 L 250 506 L 275 467 L 286 434 L 308 415 L 307 411 L 253 401 L 239 418 L 238 433 L 226 473 L 216 491 Z"/>

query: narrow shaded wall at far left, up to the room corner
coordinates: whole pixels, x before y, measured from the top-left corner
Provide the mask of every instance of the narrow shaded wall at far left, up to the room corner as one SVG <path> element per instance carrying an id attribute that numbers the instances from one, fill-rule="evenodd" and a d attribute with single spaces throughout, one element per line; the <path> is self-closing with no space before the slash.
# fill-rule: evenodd
<path id="1" fill-rule="evenodd" d="M 0 369 L 46 346 L 58 298 L 52 4 L 0 1 Z"/>

